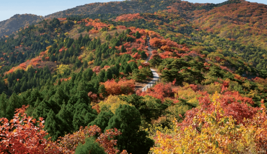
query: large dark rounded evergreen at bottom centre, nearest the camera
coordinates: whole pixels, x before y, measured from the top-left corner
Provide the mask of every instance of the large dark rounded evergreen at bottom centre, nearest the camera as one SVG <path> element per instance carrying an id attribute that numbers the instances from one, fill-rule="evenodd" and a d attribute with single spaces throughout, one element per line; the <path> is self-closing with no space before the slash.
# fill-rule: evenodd
<path id="1" fill-rule="evenodd" d="M 117 146 L 119 150 L 126 149 L 129 153 L 147 154 L 154 141 L 147 138 L 145 131 L 140 131 L 141 118 L 138 110 L 134 106 L 120 105 L 115 115 L 108 121 L 105 129 L 117 128 L 122 135 L 117 136 Z"/>

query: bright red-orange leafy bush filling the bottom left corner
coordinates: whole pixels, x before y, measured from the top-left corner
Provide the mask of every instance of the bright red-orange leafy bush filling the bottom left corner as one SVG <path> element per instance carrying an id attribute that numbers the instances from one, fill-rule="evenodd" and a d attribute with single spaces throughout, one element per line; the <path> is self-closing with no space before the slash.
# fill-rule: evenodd
<path id="1" fill-rule="evenodd" d="M 43 130 L 43 118 L 36 121 L 26 114 L 15 114 L 10 121 L 7 118 L 0 119 L 0 153 L 21 154 L 21 153 L 45 153 L 47 135 Z M 37 126 L 36 126 L 37 125 Z"/>

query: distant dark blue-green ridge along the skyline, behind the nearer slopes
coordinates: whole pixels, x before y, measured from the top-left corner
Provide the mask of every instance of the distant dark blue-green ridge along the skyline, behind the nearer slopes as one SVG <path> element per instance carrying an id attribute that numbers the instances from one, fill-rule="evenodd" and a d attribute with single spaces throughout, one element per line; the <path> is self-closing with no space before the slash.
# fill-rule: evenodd
<path id="1" fill-rule="evenodd" d="M 46 16 L 38 16 L 32 14 L 22 14 L 22 15 L 14 15 L 10 19 L 4 20 L 0 22 L 0 37 L 3 35 L 10 35 L 13 32 L 16 32 L 20 27 L 29 26 L 34 23 L 38 23 L 43 19 L 48 18 L 65 18 L 68 16 L 82 16 L 82 17 L 101 17 L 105 19 L 110 19 L 119 14 L 127 14 L 127 13 L 154 13 L 158 10 L 165 10 L 167 7 L 172 6 L 174 3 L 178 3 L 177 10 L 179 10 L 179 14 L 183 17 L 187 17 L 188 13 L 195 9 L 211 9 L 213 7 L 225 5 L 228 3 L 236 3 L 239 2 L 237 0 L 228 0 L 224 3 L 220 4 L 200 4 L 200 3 L 189 3 L 181 0 L 168 0 L 168 1 L 160 1 L 160 0 L 147 0 L 147 1 L 139 1 L 139 0 L 130 0 L 130 1 L 122 1 L 122 2 L 105 2 L 105 3 L 90 3 L 85 5 L 76 6 L 71 9 L 55 12 L 53 14 L 49 14 Z M 189 11 L 189 12 L 188 12 Z M 185 13 L 187 12 L 187 13 Z M 98 16 L 97 16 L 98 15 Z"/>

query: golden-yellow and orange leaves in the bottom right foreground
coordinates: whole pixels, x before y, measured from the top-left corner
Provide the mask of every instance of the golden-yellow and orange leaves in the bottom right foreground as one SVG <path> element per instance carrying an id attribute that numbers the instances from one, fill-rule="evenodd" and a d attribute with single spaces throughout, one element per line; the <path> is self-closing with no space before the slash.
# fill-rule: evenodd
<path id="1" fill-rule="evenodd" d="M 157 131 L 158 137 L 151 152 L 157 154 L 265 153 L 267 136 L 265 106 L 262 105 L 262 112 L 258 112 L 252 119 L 244 119 L 244 124 L 236 124 L 232 116 L 224 116 L 220 103 L 216 101 L 218 98 L 219 95 L 216 92 L 213 95 L 214 112 L 207 114 L 199 111 L 193 118 L 193 123 L 184 130 L 176 126 L 176 133 L 173 135 Z M 173 122 L 177 125 L 177 121 Z"/>

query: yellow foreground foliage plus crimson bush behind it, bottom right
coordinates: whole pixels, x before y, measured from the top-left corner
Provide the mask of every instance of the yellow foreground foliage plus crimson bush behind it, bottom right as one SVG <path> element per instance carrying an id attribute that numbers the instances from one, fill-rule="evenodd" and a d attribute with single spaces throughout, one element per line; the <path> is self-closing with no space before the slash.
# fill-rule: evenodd
<path id="1" fill-rule="evenodd" d="M 157 132 L 154 153 L 265 153 L 266 108 L 249 107 L 230 95 L 199 98 L 200 108 L 173 121 L 173 134 Z"/>

